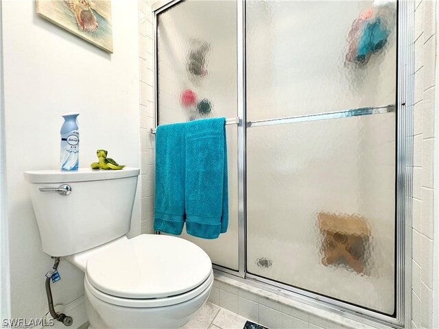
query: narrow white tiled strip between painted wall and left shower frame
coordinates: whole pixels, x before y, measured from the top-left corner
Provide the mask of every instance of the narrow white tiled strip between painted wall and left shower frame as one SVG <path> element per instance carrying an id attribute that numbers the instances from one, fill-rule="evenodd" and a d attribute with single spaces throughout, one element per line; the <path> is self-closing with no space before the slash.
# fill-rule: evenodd
<path id="1" fill-rule="evenodd" d="M 154 35 L 151 5 L 139 0 L 140 138 L 141 138 L 141 230 L 153 232 L 154 220 Z"/>

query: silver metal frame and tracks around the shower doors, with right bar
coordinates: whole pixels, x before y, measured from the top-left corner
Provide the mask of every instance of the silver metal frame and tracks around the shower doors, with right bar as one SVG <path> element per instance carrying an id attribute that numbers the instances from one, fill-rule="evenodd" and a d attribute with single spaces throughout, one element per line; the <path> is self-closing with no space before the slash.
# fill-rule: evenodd
<path id="1" fill-rule="evenodd" d="M 158 124 L 157 15 L 185 0 L 163 0 L 152 5 L 154 12 L 154 106 Z M 329 310 L 368 325 L 404 328 L 410 324 L 412 282 L 412 156 L 414 106 L 414 0 L 398 0 L 397 14 L 397 96 L 396 104 L 340 112 L 311 114 L 270 120 L 246 121 L 246 0 L 237 0 L 237 101 L 238 101 L 238 270 L 213 265 L 215 273 L 234 278 L 292 300 Z M 246 270 L 246 129 L 262 125 L 294 123 L 359 115 L 396 112 L 396 259 L 395 313 L 375 310 L 319 295 L 282 282 L 248 273 Z M 246 123 L 246 124 L 242 124 Z"/>

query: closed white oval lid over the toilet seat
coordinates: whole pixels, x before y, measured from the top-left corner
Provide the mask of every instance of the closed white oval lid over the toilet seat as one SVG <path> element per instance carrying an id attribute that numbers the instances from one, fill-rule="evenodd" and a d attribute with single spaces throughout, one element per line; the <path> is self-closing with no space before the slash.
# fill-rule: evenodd
<path id="1" fill-rule="evenodd" d="M 103 293 L 159 298 L 185 293 L 212 271 L 203 249 L 175 236 L 141 234 L 88 258 L 89 282 Z"/>

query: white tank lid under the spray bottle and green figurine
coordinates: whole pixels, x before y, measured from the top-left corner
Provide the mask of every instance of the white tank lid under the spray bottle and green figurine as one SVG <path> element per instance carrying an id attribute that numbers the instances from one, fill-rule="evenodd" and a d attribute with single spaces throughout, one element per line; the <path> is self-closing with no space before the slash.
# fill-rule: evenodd
<path id="1" fill-rule="evenodd" d="M 80 168 L 76 171 L 62 170 L 34 170 L 25 171 L 25 180 L 29 183 L 68 183 L 68 182 L 89 182 L 93 180 L 115 180 L 138 176 L 139 168 L 125 167 L 121 170 L 102 170 L 91 168 Z"/>

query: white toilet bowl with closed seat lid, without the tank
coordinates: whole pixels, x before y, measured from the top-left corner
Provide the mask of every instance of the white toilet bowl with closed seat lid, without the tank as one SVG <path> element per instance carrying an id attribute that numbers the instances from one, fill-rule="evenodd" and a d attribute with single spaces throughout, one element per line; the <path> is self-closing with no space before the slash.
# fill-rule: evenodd
<path id="1" fill-rule="evenodd" d="M 180 328 L 213 285 L 209 256 L 174 236 L 124 237 L 67 259 L 85 271 L 90 328 Z"/>

